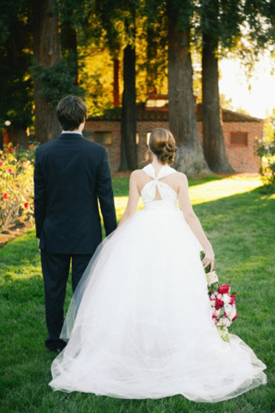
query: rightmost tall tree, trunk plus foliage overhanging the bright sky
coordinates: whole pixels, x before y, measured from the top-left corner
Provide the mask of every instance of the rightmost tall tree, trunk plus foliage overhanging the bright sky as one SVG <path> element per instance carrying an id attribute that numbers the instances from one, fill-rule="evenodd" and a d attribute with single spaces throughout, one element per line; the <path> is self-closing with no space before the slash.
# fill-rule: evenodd
<path id="1" fill-rule="evenodd" d="M 203 149 L 212 171 L 231 172 L 225 153 L 219 104 L 219 56 L 234 48 L 242 56 L 258 54 L 274 39 L 274 2 L 264 0 L 200 0 L 202 36 Z M 241 25 L 250 47 L 241 45 Z"/>

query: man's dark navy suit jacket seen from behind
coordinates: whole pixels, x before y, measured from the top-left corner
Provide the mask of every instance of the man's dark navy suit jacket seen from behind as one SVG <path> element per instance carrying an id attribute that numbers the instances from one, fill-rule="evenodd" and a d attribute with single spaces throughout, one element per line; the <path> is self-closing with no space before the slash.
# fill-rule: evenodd
<path id="1" fill-rule="evenodd" d="M 107 150 L 80 134 L 63 133 L 36 149 L 34 217 L 47 253 L 92 254 L 104 228 L 116 228 Z"/>

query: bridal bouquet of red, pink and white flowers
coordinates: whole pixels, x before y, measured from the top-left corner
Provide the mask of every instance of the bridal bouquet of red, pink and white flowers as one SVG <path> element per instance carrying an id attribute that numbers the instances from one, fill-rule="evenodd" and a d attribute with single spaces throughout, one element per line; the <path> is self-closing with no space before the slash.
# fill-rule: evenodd
<path id="1" fill-rule="evenodd" d="M 204 253 L 201 252 L 201 260 Z M 217 325 L 219 335 L 229 343 L 228 327 L 238 317 L 236 312 L 236 295 L 230 293 L 229 284 L 221 286 L 219 278 L 214 271 L 210 271 L 210 265 L 205 268 L 208 284 L 208 295 L 212 307 L 212 319 Z"/>

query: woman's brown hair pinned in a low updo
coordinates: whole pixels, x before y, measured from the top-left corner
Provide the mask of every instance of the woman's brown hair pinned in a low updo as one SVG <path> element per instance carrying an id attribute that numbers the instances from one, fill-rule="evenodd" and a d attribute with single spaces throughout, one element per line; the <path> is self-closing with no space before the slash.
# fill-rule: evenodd
<path id="1" fill-rule="evenodd" d="M 174 136 L 167 129 L 155 129 L 149 138 L 149 149 L 163 164 L 172 165 L 177 151 Z"/>

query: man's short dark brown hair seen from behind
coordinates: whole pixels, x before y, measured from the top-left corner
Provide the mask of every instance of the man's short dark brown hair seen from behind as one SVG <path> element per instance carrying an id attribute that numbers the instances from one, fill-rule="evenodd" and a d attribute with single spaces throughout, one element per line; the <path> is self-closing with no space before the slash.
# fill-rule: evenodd
<path id="1" fill-rule="evenodd" d="M 63 131 L 73 131 L 87 118 L 87 106 L 78 96 L 69 95 L 58 103 L 56 116 Z"/>

